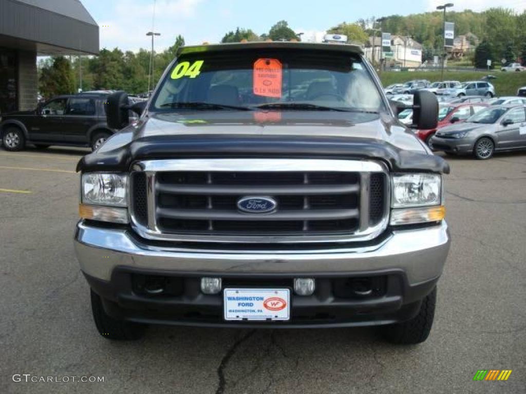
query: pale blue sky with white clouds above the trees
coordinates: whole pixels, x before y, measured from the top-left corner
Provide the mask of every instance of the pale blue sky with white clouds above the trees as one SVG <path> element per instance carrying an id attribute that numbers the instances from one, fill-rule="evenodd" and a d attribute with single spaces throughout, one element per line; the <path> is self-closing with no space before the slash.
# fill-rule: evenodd
<path id="1" fill-rule="evenodd" d="M 80 0 L 99 25 L 100 48 L 137 51 L 149 48 L 154 0 Z M 449 0 L 448 0 L 449 1 Z M 526 0 L 451 0 L 453 11 L 483 11 L 503 6 L 522 12 Z M 303 40 L 320 40 L 326 29 L 341 22 L 386 15 L 408 15 L 432 11 L 444 0 L 155 0 L 155 50 L 161 51 L 182 35 L 187 44 L 217 43 L 229 30 L 251 28 L 267 33 L 285 19 Z"/>

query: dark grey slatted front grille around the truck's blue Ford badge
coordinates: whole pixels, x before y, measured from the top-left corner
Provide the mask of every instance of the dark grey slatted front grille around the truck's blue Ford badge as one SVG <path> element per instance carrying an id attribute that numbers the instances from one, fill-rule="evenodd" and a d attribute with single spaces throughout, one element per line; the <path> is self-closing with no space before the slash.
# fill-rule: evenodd
<path id="1" fill-rule="evenodd" d="M 194 237 L 191 240 L 203 242 L 231 237 L 240 242 L 266 237 L 271 243 L 287 237 L 307 241 L 309 236 L 367 233 L 386 218 L 385 172 L 282 171 L 273 170 L 271 162 L 266 171 L 237 170 L 234 163 L 236 171 L 222 171 L 220 166 L 217 171 L 198 171 L 196 160 L 194 171 L 156 167 L 133 172 L 134 223 L 153 238 Z M 270 197 L 277 208 L 271 213 L 242 212 L 238 201 L 247 196 Z"/>

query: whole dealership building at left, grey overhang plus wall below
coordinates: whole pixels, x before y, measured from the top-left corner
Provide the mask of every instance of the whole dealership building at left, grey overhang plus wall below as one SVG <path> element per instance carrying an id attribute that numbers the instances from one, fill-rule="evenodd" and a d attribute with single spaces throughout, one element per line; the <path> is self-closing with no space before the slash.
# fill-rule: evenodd
<path id="1" fill-rule="evenodd" d="M 79 0 L 0 0 L 0 114 L 36 107 L 37 56 L 98 51 L 98 25 Z"/>

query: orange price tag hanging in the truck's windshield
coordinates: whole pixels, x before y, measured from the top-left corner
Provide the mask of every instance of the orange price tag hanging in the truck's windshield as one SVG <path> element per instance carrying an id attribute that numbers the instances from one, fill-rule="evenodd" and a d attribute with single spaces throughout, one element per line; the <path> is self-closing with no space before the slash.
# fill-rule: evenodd
<path id="1" fill-rule="evenodd" d="M 278 59 L 257 59 L 254 63 L 254 94 L 281 97 L 282 71 Z"/>

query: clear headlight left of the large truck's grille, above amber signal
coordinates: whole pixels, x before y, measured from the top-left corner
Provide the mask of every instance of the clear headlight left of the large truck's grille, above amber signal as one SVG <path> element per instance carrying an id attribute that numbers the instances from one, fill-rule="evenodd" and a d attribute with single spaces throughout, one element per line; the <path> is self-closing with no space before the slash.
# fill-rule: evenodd
<path id="1" fill-rule="evenodd" d="M 127 206 L 128 175 L 87 173 L 82 175 L 82 203 Z"/>

